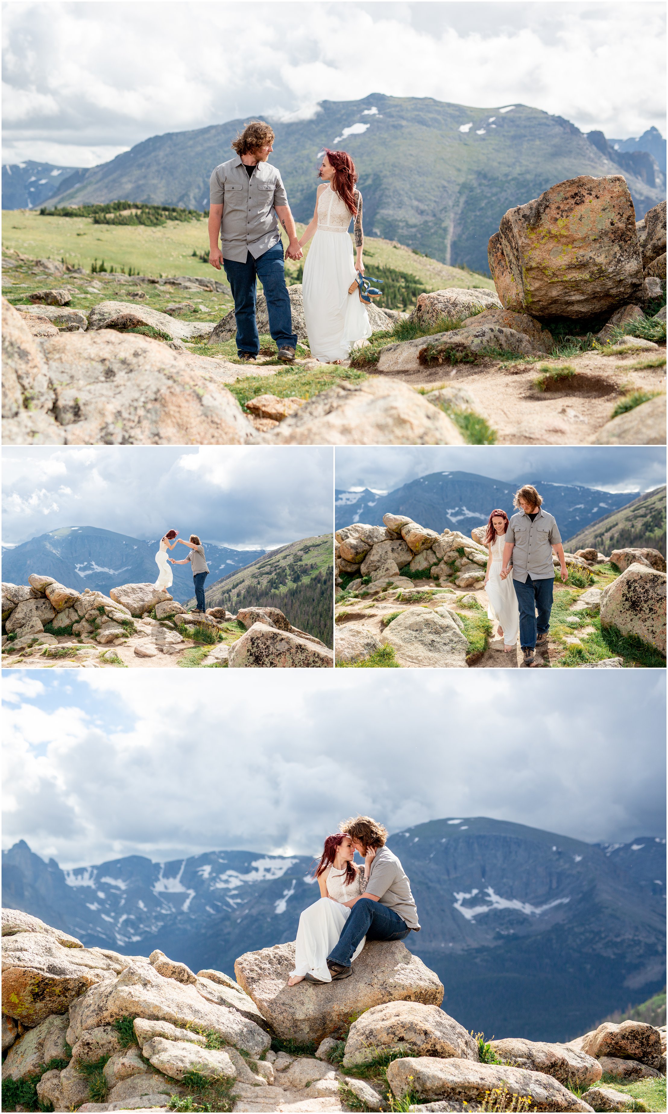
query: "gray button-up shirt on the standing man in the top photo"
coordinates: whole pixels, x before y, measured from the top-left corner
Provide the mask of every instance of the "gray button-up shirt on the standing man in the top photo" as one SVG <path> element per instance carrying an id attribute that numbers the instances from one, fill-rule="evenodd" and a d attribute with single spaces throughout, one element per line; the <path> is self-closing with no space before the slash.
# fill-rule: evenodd
<path id="1" fill-rule="evenodd" d="M 217 166 L 209 179 L 212 205 L 223 206 L 220 246 L 224 260 L 245 263 L 268 252 L 281 240 L 276 205 L 287 194 L 275 166 L 258 163 L 250 177 L 238 155 Z"/>

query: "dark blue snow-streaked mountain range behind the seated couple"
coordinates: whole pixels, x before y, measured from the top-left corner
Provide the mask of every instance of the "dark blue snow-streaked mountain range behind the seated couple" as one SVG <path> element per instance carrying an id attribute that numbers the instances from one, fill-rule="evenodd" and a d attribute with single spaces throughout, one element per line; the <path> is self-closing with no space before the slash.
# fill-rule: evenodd
<path id="1" fill-rule="evenodd" d="M 390 837 L 443 1009 L 488 1036 L 566 1040 L 665 981 L 666 840 L 591 844 L 484 817 Z M 2 903 L 89 947 L 160 948 L 194 970 L 295 938 L 316 898 L 308 856 L 222 850 L 174 862 L 128 856 L 61 870 L 21 840 L 2 854 Z"/>

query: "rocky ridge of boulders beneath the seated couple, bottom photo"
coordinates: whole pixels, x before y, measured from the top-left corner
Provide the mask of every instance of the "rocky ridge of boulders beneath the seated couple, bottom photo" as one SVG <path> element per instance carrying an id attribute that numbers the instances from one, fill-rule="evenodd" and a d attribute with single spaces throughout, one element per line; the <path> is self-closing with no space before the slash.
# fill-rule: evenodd
<path id="1" fill-rule="evenodd" d="M 352 979 L 313 988 L 287 986 L 294 944 L 239 956 L 235 980 L 159 950 L 87 949 L 11 909 L 2 935 L 7 1110 L 32 1091 L 57 1112 L 86 1114 L 177 1110 L 188 1096 L 180 1108 L 306 1114 L 403 1100 L 410 1111 L 475 1111 L 494 1093 L 531 1096 L 537 1110 L 602 1111 L 617 1108 L 605 1105 L 603 1072 L 666 1072 L 665 1026 L 641 1022 L 605 1023 L 568 1044 L 485 1043 L 439 1008 L 438 977 L 401 941 L 369 942 Z"/>

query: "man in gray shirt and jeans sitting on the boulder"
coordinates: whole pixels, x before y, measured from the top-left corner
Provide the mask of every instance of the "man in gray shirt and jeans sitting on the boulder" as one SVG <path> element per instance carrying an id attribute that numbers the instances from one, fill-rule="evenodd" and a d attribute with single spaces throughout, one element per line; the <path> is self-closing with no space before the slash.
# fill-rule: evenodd
<path id="1" fill-rule="evenodd" d="M 367 940 L 404 940 L 409 932 L 420 931 L 411 883 L 396 856 L 385 847 L 386 829 L 371 817 L 357 817 L 343 821 L 338 830 L 347 832 L 355 851 L 372 862 L 365 892 L 344 902 L 351 915 L 327 956 L 332 981 L 353 974 L 352 956 L 364 936 Z M 321 981 L 312 975 L 305 978 Z"/>

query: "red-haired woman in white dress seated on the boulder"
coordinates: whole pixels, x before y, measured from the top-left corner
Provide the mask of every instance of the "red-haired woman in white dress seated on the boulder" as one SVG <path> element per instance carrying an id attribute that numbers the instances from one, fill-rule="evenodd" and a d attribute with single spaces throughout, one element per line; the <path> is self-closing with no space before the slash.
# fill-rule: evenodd
<path id="1" fill-rule="evenodd" d="M 321 861 L 315 869 L 321 897 L 315 905 L 304 909 L 299 917 L 295 969 L 291 971 L 288 986 L 296 986 L 306 974 L 313 975 L 322 983 L 332 981 L 327 956 L 338 942 L 343 926 L 351 913 L 343 902 L 364 892 L 374 856 L 375 851 L 370 849 L 364 867 L 356 867 L 353 863 L 355 850 L 351 837 L 345 833 L 327 836 Z M 353 959 L 356 959 L 362 951 L 364 940 L 357 945 Z"/>

